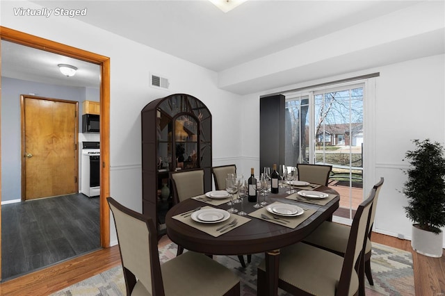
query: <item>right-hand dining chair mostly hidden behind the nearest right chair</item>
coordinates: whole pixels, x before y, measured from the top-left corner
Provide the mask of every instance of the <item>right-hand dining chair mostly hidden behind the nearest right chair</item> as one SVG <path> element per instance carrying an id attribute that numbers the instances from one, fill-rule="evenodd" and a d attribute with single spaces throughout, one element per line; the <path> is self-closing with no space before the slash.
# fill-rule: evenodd
<path id="1" fill-rule="evenodd" d="M 368 229 L 368 238 L 366 239 L 366 246 L 364 251 L 364 272 L 366 274 L 366 279 L 371 286 L 373 286 L 374 281 L 371 273 L 371 233 L 374 223 L 375 211 L 377 209 L 378 195 L 380 194 L 380 189 L 382 188 L 384 178 L 380 178 L 380 181 L 373 186 L 375 190 L 375 198 L 373 202 L 373 209 L 371 211 L 371 219 Z M 344 256 L 346 252 L 346 247 L 348 245 L 348 236 L 350 233 L 350 226 L 345 224 L 339 224 L 335 222 L 325 221 L 320 225 L 314 232 L 312 232 L 303 242 L 308 243 L 316 247 L 321 247 L 327 251 L 334 252 L 340 256 Z"/>

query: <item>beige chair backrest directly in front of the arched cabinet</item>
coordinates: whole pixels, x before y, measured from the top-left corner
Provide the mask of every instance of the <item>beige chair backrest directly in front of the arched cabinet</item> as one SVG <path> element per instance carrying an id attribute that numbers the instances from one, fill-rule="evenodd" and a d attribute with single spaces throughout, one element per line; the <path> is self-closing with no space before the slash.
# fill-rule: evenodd
<path id="1" fill-rule="evenodd" d="M 170 172 L 175 204 L 191 197 L 204 194 L 204 170 Z"/>

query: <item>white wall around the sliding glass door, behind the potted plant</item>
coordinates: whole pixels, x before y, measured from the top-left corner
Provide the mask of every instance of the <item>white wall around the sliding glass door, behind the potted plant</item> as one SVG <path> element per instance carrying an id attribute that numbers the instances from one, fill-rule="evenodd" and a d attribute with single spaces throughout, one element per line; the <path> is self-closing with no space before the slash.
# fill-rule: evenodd
<path id="1" fill-rule="evenodd" d="M 362 72 L 334 76 L 330 79 L 309 81 L 299 85 L 288 85 L 280 89 L 269 90 L 243 96 L 246 108 L 259 110 L 258 97 L 262 94 L 291 90 L 317 83 L 336 81 L 346 77 L 380 72 L 375 79 L 375 102 L 373 108 L 366 110 L 366 117 L 372 118 L 375 124 L 370 126 L 374 138 L 370 151 L 373 157 L 364 174 L 368 188 L 380 179 L 385 183 L 380 192 L 378 208 L 375 215 L 374 230 L 391 236 L 411 239 L 410 220 L 405 216 L 403 206 L 407 199 L 401 194 L 406 176 L 403 170 L 407 168 L 403 161 L 405 151 L 413 149 L 412 139 L 425 139 L 445 144 L 445 56 L 430 56 L 409 60 L 403 63 L 386 65 Z M 259 167 L 259 114 L 248 113 L 243 119 L 243 157 L 245 167 Z M 250 131 L 249 133 L 247 131 Z M 365 135 L 366 140 L 370 140 Z M 372 139 L 371 139 L 372 140 Z M 369 143 L 369 142 L 368 142 Z M 371 143 L 369 143 L 371 144 Z M 257 156 L 257 157 L 255 157 Z M 445 229 L 442 229 L 445 230 Z M 445 247 L 445 245 L 444 245 Z"/>

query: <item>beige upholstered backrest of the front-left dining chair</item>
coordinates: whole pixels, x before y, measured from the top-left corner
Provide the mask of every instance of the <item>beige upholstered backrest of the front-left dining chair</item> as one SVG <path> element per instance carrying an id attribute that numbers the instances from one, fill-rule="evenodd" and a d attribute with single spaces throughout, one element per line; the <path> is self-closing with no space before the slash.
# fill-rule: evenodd
<path id="1" fill-rule="evenodd" d="M 127 295 L 142 283 L 151 295 L 164 295 L 158 240 L 153 220 L 106 198 L 113 213 Z"/>

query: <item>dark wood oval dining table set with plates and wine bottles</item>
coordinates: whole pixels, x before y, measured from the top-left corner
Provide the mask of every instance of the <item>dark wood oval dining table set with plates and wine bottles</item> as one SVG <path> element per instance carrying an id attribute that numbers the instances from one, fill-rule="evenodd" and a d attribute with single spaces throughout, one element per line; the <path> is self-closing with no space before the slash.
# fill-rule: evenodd
<path id="1" fill-rule="evenodd" d="M 268 192 L 266 197 L 269 203 L 284 202 L 286 204 L 295 204 L 302 208 L 310 208 L 316 212 L 309 216 L 307 220 L 302 222 L 295 229 L 285 227 L 281 224 L 275 224 L 255 217 L 245 216 L 251 220 L 232 231 L 224 233 L 221 236 L 213 237 L 203 231 L 195 229 L 183 222 L 172 217 L 186 211 L 193 210 L 197 206 L 205 204 L 195 199 L 186 199 L 176 204 L 168 211 L 165 216 L 165 227 L 167 235 L 172 242 L 181 245 L 184 249 L 203 254 L 212 255 L 239 255 L 239 254 L 255 254 L 264 252 L 266 258 L 266 272 L 268 277 L 267 295 L 277 295 L 278 291 L 278 268 L 280 264 L 280 249 L 296 242 L 300 242 L 303 238 L 312 233 L 323 221 L 331 220 L 334 211 L 339 208 L 339 194 L 337 191 L 326 186 L 316 188 L 316 191 L 326 192 L 337 195 L 325 206 L 309 204 L 305 202 L 293 201 L 286 199 L 289 196 L 286 191 L 289 188 L 280 188 L 277 194 Z M 263 197 L 259 197 L 262 201 Z M 253 207 L 254 203 L 244 200 L 243 208 L 247 213 L 257 210 Z M 239 209 L 240 205 L 236 204 Z M 215 208 L 227 209 L 229 206 L 223 204 L 215 206 Z M 233 215 L 233 214 L 232 214 Z"/>

